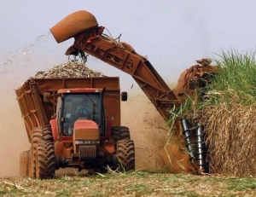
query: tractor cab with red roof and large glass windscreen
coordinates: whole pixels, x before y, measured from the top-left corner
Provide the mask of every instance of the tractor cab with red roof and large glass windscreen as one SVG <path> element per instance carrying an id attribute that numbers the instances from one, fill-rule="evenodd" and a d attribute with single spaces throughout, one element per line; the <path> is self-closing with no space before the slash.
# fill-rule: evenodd
<path id="1" fill-rule="evenodd" d="M 73 136 L 74 125 L 78 120 L 93 121 L 99 129 L 100 135 L 104 135 L 103 92 L 104 90 L 98 89 L 59 90 L 56 107 L 59 136 Z M 85 123 L 88 125 L 89 121 L 84 121 Z"/>

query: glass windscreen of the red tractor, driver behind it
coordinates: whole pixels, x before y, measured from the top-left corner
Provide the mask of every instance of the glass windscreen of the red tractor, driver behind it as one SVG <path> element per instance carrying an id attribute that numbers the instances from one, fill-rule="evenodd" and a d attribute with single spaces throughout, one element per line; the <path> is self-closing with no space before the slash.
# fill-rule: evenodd
<path id="1" fill-rule="evenodd" d="M 73 135 L 73 125 L 78 119 L 90 119 L 101 124 L 100 93 L 95 94 L 68 94 L 63 99 L 63 134 Z"/>

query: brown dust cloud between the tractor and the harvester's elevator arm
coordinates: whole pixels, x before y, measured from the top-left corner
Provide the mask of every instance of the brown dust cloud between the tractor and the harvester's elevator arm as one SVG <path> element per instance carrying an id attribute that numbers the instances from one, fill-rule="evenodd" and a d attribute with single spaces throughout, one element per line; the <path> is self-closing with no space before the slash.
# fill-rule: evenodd
<path id="1" fill-rule="evenodd" d="M 164 170 L 160 149 L 167 142 L 166 122 L 148 97 L 142 94 L 128 96 L 121 104 L 122 125 L 129 127 L 135 143 L 136 169 L 139 171 Z"/>

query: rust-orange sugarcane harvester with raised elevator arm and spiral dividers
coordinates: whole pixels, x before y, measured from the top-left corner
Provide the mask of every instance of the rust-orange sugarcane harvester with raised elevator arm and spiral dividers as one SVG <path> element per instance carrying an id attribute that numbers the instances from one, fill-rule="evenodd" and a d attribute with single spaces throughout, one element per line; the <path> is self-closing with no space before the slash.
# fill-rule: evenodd
<path id="1" fill-rule="evenodd" d="M 173 107 L 178 108 L 188 96 L 195 94 L 196 89 L 203 87 L 201 78 L 205 78 L 208 73 L 216 72 L 209 59 L 197 61 L 198 64 L 185 70 L 178 79 L 175 90 L 171 90 L 160 74 L 154 69 L 151 63 L 143 55 L 137 54 L 136 50 L 129 43 L 120 42 L 106 35 L 104 26 L 98 26 L 96 17 L 87 11 L 79 10 L 73 14 L 67 15 L 50 29 L 57 43 L 61 43 L 69 38 L 74 38 L 73 45 L 67 49 L 66 55 L 80 55 L 85 57 L 84 53 L 92 55 L 109 65 L 131 75 L 143 90 L 148 99 L 160 115 L 168 121 L 170 111 Z M 202 128 L 201 126 L 199 128 Z M 201 129 L 197 131 L 197 155 L 183 153 L 188 148 L 193 152 L 192 142 L 190 142 L 190 129 L 186 120 L 177 121 L 174 126 L 173 135 L 177 137 L 178 143 L 172 146 L 167 156 L 169 163 L 175 163 L 175 160 L 181 160 L 184 171 L 203 171 L 204 158 L 201 151 Z M 184 134 L 181 135 L 181 134 Z M 177 148 L 178 147 L 178 148 Z M 197 161 L 191 164 L 191 160 Z M 166 162 L 168 162 L 166 160 Z M 171 171 L 183 171 L 181 168 L 171 166 Z"/>

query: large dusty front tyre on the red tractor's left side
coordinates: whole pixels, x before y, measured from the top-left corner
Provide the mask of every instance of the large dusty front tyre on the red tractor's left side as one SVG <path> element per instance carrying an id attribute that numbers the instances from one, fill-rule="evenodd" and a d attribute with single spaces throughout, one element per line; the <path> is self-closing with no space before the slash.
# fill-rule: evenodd
<path id="1" fill-rule="evenodd" d="M 53 142 L 39 142 L 36 151 L 36 178 L 55 177 L 55 148 Z"/>

